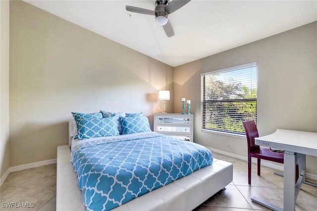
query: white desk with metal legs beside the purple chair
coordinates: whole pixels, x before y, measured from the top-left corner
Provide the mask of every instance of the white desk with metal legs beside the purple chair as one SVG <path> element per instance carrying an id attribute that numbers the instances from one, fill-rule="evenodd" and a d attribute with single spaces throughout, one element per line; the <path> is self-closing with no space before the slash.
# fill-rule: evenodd
<path id="1" fill-rule="evenodd" d="M 284 150 L 284 211 L 295 211 L 295 201 L 302 182 L 306 181 L 306 155 L 317 156 L 317 132 L 277 129 L 276 132 L 255 138 L 255 144 Z M 295 164 L 298 164 L 300 175 L 295 184 Z M 315 186 L 315 185 L 314 185 Z M 253 202 L 273 211 L 283 209 L 256 197 Z"/>

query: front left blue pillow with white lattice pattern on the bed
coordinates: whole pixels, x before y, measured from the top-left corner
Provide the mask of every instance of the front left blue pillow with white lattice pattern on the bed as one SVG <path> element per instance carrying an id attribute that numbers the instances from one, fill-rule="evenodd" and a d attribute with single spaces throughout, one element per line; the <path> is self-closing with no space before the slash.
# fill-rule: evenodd
<path id="1" fill-rule="evenodd" d="M 119 135 L 116 118 L 81 118 L 76 121 L 78 138 L 97 138 Z"/>

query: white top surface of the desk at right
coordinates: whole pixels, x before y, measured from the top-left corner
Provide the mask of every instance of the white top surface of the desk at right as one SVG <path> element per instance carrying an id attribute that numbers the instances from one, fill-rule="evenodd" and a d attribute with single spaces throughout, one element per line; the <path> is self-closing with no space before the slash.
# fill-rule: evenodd
<path id="1" fill-rule="evenodd" d="M 277 129 L 274 133 L 255 138 L 260 146 L 317 156 L 317 132 Z"/>

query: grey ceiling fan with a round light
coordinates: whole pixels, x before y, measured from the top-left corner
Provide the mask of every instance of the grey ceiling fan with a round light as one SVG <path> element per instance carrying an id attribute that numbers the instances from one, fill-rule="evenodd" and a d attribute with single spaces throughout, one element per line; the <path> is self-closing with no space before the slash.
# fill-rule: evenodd
<path id="1" fill-rule="evenodd" d="M 168 21 L 168 15 L 172 12 L 175 12 L 190 0 L 156 0 L 155 10 L 148 10 L 135 6 L 125 6 L 125 9 L 129 12 L 137 12 L 146 15 L 155 15 L 156 21 L 160 26 L 163 26 L 163 29 L 167 37 L 172 37 L 175 35 L 174 30 L 170 22 Z"/>

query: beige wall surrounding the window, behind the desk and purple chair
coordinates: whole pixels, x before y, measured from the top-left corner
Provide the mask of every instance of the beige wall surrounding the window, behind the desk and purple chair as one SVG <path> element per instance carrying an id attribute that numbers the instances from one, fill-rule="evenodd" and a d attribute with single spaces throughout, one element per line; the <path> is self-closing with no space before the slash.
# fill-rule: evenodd
<path id="1" fill-rule="evenodd" d="M 181 112 L 181 97 L 192 100 L 195 142 L 247 156 L 245 138 L 200 131 L 200 74 L 254 61 L 258 62 L 260 135 L 272 133 L 276 128 L 317 132 L 317 22 L 314 22 L 174 68 L 174 112 Z M 308 157 L 309 173 L 317 174 L 316 163 L 316 157 Z"/>

